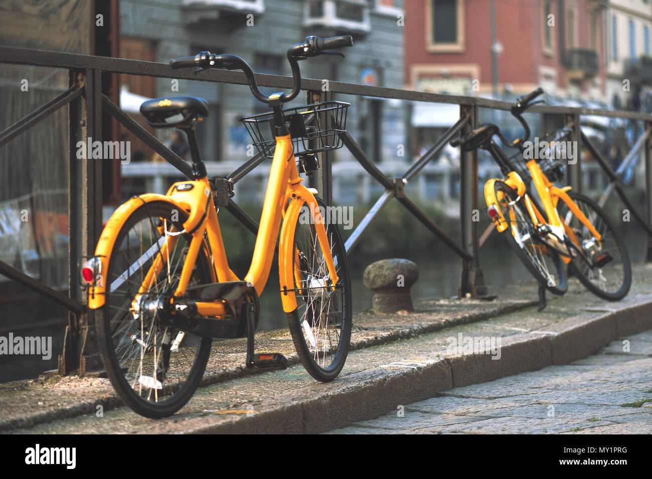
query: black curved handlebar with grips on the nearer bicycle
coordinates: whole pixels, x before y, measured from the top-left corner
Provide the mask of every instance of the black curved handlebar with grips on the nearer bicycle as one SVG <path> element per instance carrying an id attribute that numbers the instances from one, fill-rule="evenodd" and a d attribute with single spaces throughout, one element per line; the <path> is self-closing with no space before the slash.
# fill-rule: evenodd
<path id="1" fill-rule="evenodd" d="M 344 35 L 331 36 L 330 38 L 306 36 L 306 40 L 303 43 L 297 43 L 291 46 L 288 49 L 287 56 L 289 64 L 292 68 L 292 78 L 294 80 L 294 85 L 292 91 L 288 95 L 282 93 L 274 101 L 280 103 L 289 102 L 296 98 L 296 96 L 301 91 L 301 71 L 299 70 L 299 61 L 304 60 L 308 57 L 316 57 L 318 55 L 341 55 L 344 57 L 344 53 L 341 53 L 340 51 L 331 51 L 327 49 L 344 48 L 352 45 L 353 38 L 351 35 Z M 179 68 L 197 67 L 198 69 L 195 71 L 195 73 L 198 73 L 201 70 L 205 70 L 207 68 L 243 70 L 249 83 L 249 88 L 251 89 L 254 96 L 263 103 L 269 103 L 270 101 L 270 99 L 261 93 L 260 89 L 258 88 L 258 83 L 256 83 L 256 77 L 254 76 L 254 71 L 251 69 L 251 66 L 249 66 L 246 61 L 235 55 L 214 55 L 209 51 L 202 51 L 194 57 L 181 57 L 171 59 L 170 67 L 173 68 L 173 70 L 177 70 Z"/>

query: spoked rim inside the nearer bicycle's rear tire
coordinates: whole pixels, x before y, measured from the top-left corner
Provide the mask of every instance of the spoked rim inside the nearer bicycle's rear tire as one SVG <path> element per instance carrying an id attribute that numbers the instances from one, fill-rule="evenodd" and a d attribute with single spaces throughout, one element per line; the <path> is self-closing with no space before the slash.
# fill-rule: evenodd
<path id="1" fill-rule="evenodd" d="M 151 211 L 132 222 L 117 239 L 107 275 L 106 321 L 111 351 L 121 380 L 136 398 L 145 403 L 173 401 L 190 378 L 201 338 L 179 334 L 164 325 L 144 306 L 164 293 L 174 291 L 183 267 L 183 247 L 188 238 L 177 235 L 181 224 L 171 221 L 169 212 Z M 160 216 L 159 216 L 160 215 Z M 162 226 L 163 234 L 159 233 Z M 166 244 L 174 243 L 166 254 Z M 161 254 L 163 253 L 163 254 Z M 139 294 L 151 265 L 162 257 L 162 268 L 147 290 Z M 188 285 L 200 282 L 197 271 Z M 135 300 L 135 307 L 134 307 Z M 175 340 L 184 340 L 181 347 Z"/>

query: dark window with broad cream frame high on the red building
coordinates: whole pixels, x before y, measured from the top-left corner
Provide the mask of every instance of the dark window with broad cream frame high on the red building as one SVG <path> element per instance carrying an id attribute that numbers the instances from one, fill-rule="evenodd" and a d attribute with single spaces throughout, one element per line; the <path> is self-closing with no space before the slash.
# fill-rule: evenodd
<path id="1" fill-rule="evenodd" d="M 464 0 L 428 0 L 428 51 L 464 51 Z"/>

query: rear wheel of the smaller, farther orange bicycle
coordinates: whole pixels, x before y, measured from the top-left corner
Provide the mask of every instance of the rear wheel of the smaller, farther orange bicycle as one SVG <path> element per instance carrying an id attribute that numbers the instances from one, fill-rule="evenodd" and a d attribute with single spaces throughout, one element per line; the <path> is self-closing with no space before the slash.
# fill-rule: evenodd
<path id="1" fill-rule="evenodd" d="M 534 225 L 522 200 L 502 181 L 494 184 L 498 207 L 507 220 L 505 238 L 530 274 L 555 295 L 568 289 L 566 271 L 559 254 L 537 240 Z M 518 201 L 517 201 L 518 200 Z"/>

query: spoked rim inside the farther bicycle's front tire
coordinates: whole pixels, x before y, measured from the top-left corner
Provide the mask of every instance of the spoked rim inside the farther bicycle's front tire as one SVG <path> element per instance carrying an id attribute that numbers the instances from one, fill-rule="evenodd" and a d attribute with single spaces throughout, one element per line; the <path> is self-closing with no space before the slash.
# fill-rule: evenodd
<path id="1" fill-rule="evenodd" d="M 572 211 L 564 203 L 563 208 L 560 208 L 559 216 L 561 216 L 565 224 L 571 227 L 580 245 L 582 245 L 582 250 L 589 257 L 598 257 L 604 252 L 608 252 L 612 256 L 612 260 L 603 267 L 591 267 L 580 257 L 574 257 L 572 264 L 578 273 L 584 276 L 596 289 L 615 295 L 624 287 L 626 275 L 623 268 L 625 259 L 621 255 L 614 231 L 593 205 L 576 196 L 572 197 L 572 201 L 600 235 L 600 241 L 596 242 L 589 229 L 572 214 Z"/>

